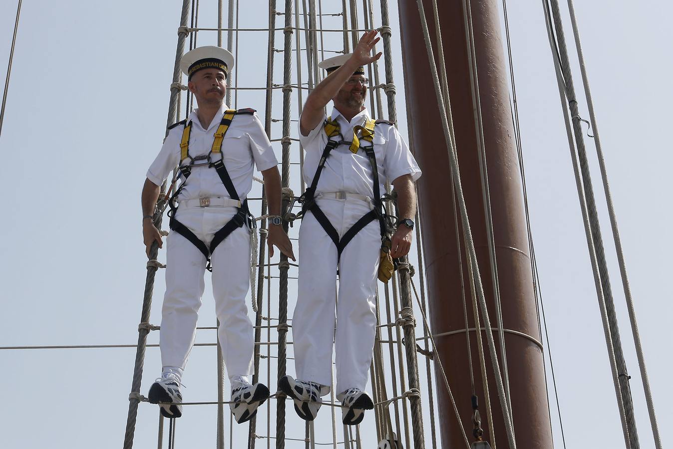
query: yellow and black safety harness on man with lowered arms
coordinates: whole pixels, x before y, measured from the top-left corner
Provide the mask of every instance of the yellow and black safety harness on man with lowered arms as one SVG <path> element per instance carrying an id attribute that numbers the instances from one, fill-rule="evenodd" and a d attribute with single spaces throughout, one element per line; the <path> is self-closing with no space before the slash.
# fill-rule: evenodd
<path id="1" fill-rule="evenodd" d="M 227 130 L 229 129 L 229 125 L 232 124 L 234 116 L 236 116 L 236 114 L 254 114 L 254 112 L 255 112 L 254 109 L 226 110 L 224 116 L 222 116 L 222 120 L 219 123 L 217 131 L 215 131 L 215 139 L 213 140 L 213 147 L 211 147 L 211 151 L 209 151 L 207 155 L 197 157 L 191 157 L 189 155 L 189 134 L 192 129 L 192 121 L 189 120 L 187 122 L 187 120 L 183 120 L 182 122 L 178 122 L 175 125 L 173 125 L 173 126 L 177 126 L 178 124 L 184 125 L 184 129 L 182 130 L 182 141 L 180 142 L 180 165 L 178 166 L 180 174 L 182 175 L 182 177 L 184 177 L 184 181 L 182 181 L 182 184 L 180 184 L 180 187 L 175 191 L 175 193 L 171 196 L 170 201 L 168 202 L 168 206 L 170 206 L 170 212 L 168 212 L 168 216 L 170 216 L 169 227 L 172 231 L 175 231 L 176 233 L 182 235 L 182 237 L 184 237 L 185 239 L 193 243 L 194 246 L 199 248 L 199 251 L 201 251 L 201 253 L 203 253 L 203 255 L 205 255 L 206 257 L 207 261 L 206 268 L 209 271 L 213 271 L 211 267 L 210 257 L 211 254 L 213 254 L 213 252 L 215 251 L 215 248 L 217 248 L 217 245 L 222 243 L 222 241 L 226 239 L 229 236 L 229 234 L 245 225 L 246 222 L 248 224 L 248 227 L 254 227 L 255 225 L 255 220 L 250 214 L 250 210 L 248 210 L 248 200 L 246 199 L 244 202 L 241 202 L 240 198 L 238 197 L 238 193 L 236 192 L 236 188 L 234 188 L 232 178 L 229 177 L 229 173 L 227 173 L 227 169 L 224 166 L 223 162 L 224 158 L 220 157 L 218 161 L 215 162 L 211 161 L 211 155 L 213 155 L 213 153 L 221 154 L 222 140 L 224 138 L 224 135 L 227 133 Z M 189 159 L 189 163 L 183 165 L 183 162 L 186 159 Z M 190 173 L 192 173 L 192 167 L 201 167 L 203 165 L 212 167 L 215 169 L 215 171 L 217 171 L 219 179 L 221 179 L 225 189 L 227 189 L 229 198 L 238 202 L 238 206 L 236 206 L 236 208 L 238 209 L 236 211 L 236 215 L 234 215 L 234 217 L 231 220 L 229 220 L 222 227 L 222 229 L 220 229 L 215 233 L 213 241 L 211 241 L 210 247 L 207 247 L 206 244 L 203 243 L 203 241 L 199 240 L 199 237 L 194 235 L 194 233 L 192 233 L 192 231 L 190 231 L 188 227 L 183 225 L 175 218 L 176 211 L 178 210 L 178 206 L 176 206 L 175 202 L 176 199 L 178 198 L 178 195 L 182 191 L 182 188 L 186 184 L 187 178 L 189 177 Z M 201 198 L 201 206 L 208 206 L 208 205 L 209 205 L 209 198 Z"/>

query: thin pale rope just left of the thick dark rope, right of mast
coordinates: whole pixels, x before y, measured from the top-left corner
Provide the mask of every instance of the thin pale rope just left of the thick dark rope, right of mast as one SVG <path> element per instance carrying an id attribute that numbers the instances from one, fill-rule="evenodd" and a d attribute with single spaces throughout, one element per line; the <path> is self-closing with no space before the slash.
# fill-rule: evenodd
<path id="1" fill-rule="evenodd" d="M 553 52 L 553 40 L 551 35 L 551 11 L 549 11 L 549 5 L 547 0 L 542 0 L 542 9 L 544 10 L 544 19 L 546 22 L 547 34 L 549 38 L 549 44 L 552 47 Z M 612 347 L 612 335 L 610 335 L 610 325 L 608 323 L 608 317 L 606 312 L 605 299 L 603 296 L 602 286 L 600 284 L 600 273 L 598 272 L 598 261 L 596 257 L 596 249 L 594 247 L 594 240 L 592 237 L 592 229 L 589 223 L 589 216 L 586 204 L 586 197 L 584 195 L 583 183 L 581 181 L 581 175 L 579 173 L 579 162 L 577 161 L 577 155 L 575 154 L 575 142 L 573 140 L 573 132 L 571 130 L 571 122 L 568 114 L 566 99 L 565 84 L 560 75 L 561 67 L 559 66 L 559 61 L 555 58 L 554 60 L 555 70 L 557 73 L 557 85 L 559 88 L 559 97 L 561 99 L 561 109 L 563 110 L 563 119 L 565 122 L 565 131 L 568 139 L 568 146 L 571 153 L 571 161 L 573 163 L 573 173 L 575 174 L 575 186 L 577 188 L 577 196 L 579 197 L 580 210 L 582 214 L 582 221 L 584 225 L 584 232 L 586 234 L 587 246 L 589 249 L 589 256 L 592 266 L 592 273 L 594 274 L 594 284 L 596 286 L 596 296 L 598 299 L 598 307 L 600 309 L 601 321 L 603 325 L 603 333 L 606 341 L 606 347 L 608 350 L 608 357 L 610 359 L 610 370 L 612 372 L 612 382 L 614 384 L 615 397 L 617 401 L 617 406 L 619 409 L 619 417 L 622 423 L 622 431 L 624 434 L 625 445 L 627 448 L 631 447 L 631 440 L 629 438 L 629 429 L 627 425 L 626 413 L 624 410 L 624 403 L 622 399 L 621 388 L 619 385 L 618 372 L 616 367 L 616 360 L 614 357 L 614 348 Z"/>

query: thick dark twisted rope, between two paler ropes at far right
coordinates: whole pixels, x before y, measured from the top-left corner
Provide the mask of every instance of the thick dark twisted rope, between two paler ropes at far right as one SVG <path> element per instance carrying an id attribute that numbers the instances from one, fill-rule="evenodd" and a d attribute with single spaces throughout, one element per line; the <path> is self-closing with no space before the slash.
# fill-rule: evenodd
<path id="1" fill-rule="evenodd" d="M 557 45 L 559 52 L 561 54 L 561 71 L 563 72 L 563 79 L 565 80 L 565 95 L 568 99 L 568 106 L 570 108 L 570 114 L 573 124 L 573 132 L 575 134 L 575 145 L 577 147 L 577 156 L 579 157 L 579 168 L 581 171 L 581 179 L 583 183 L 584 195 L 586 196 L 588 218 L 591 227 L 590 236 L 596 249 L 596 259 L 598 262 L 600 286 L 602 288 L 605 300 L 605 308 L 608 316 L 608 326 L 610 329 L 610 337 L 612 339 L 612 348 L 614 350 L 614 360 L 616 362 L 618 372 L 618 381 L 622 397 L 621 400 L 623 401 L 624 412 L 626 414 L 631 448 L 637 449 L 639 448 L 639 442 L 638 442 L 637 427 L 635 423 L 635 415 L 633 413 L 633 400 L 631 398 L 631 387 L 629 386 L 629 374 L 627 372 L 627 366 L 621 345 L 621 338 L 619 336 L 619 326 L 617 323 L 617 317 L 614 311 L 612 287 L 610 286 L 610 274 L 608 273 L 608 266 L 605 260 L 605 251 L 600 231 L 600 222 L 598 219 L 598 211 L 596 210 L 596 200 L 594 198 L 594 187 L 592 185 L 589 162 L 586 155 L 586 147 L 584 145 L 583 132 L 581 128 L 581 119 L 579 117 L 579 108 L 577 105 L 577 97 L 575 95 L 575 87 L 573 85 L 573 75 L 570 69 L 570 62 L 568 58 L 567 48 L 565 45 L 565 36 L 563 34 L 563 23 L 561 22 L 561 12 L 559 11 L 559 2 L 557 0 L 552 0 L 551 5 L 554 19 L 554 26 L 557 33 Z"/>

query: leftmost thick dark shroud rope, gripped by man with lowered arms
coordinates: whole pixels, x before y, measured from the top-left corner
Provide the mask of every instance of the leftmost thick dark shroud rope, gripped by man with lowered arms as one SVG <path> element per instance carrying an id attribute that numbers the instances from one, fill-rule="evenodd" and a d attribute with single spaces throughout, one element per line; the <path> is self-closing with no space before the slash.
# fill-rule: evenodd
<path id="1" fill-rule="evenodd" d="M 182 2 L 182 13 L 180 15 L 180 26 L 187 25 L 187 17 L 189 15 L 189 0 L 184 0 Z M 186 38 L 186 33 L 180 32 L 178 34 L 178 45 L 176 48 L 176 60 L 173 70 L 173 83 L 176 86 L 176 83 L 180 82 L 180 58 L 182 58 L 182 52 L 184 51 L 184 39 Z M 172 120 L 176 116 L 177 104 L 178 104 L 178 91 L 179 87 L 171 87 L 170 102 L 168 105 L 168 120 L 167 126 L 172 123 Z M 166 130 L 166 135 L 168 135 L 168 129 Z M 165 186 L 162 186 L 162 194 L 165 192 Z M 162 198 L 160 195 L 159 202 L 165 201 L 165 198 Z M 160 204 L 161 205 L 161 204 Z M 162 214 L 159 212 L 161 208 L 155 210 L 153 216 L 153 222 L 157 229 L 161 229 L 162 226 Z M 149 250 L 149 259 L 156 259 L 159 254 L 159 247 L 157 243 L 153 243 Z M 147 276 L 145 277 L 145 292 L 143 294 L 143 309 L 140 315 L 140 322 L 147 323 L 149 321 L 149 313 L 151 311 L 152 305 L 152 293 L 154 290 L 154 278 L 157 272 L 156 266 L 147 266 Z M 140 393 L 140 386 L 143 380 L 143 366 L 145 364 L 145 349 L 147 345 L 147 334 L 149 329 L 141 327 L 138 329 L 138 346 L 135 354 L 135 366 L 133 368 L 133 381 L 131 382 L 131 393 Z M 127 426 L 124 436 L 124 449 L 133 448 L 133 435 L 135 434 L 135 422 L 138 414 L 138 404 L 139 400 L 136 397 L 129 398 L 129 415 L 127 417 Z"/>

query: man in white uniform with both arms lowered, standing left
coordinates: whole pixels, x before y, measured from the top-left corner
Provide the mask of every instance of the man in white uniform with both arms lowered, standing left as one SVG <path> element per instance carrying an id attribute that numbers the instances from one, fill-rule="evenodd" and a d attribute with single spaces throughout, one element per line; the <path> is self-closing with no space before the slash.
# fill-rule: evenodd
<path id="1" fill-rule="evenodd" d="M 166 249 L 166 294 L 160 347 L 163 372 L 149 390 L 162 415 L 182 415 L 180 380 L 194 343 L 203 275 L 212 265 L 217 331 L 232 383 L 230 405 L 236 421 L 248 421 L 269 397 L 263 384 L 250 384 L 254 341 L 246 294 L 250 284 L 250 225 L 246 196 L 253 164 L 262 172 L 269 202 L 269 253 L 273 245 L 294 259 L 281 227 L 281 177 L 271 143 L 254 110 L 228 110 L 223 99 L 227 71 L 234 57 L 223 48 L 205 46 L 182 56 L 180 69 L 199 108 L 171 126 L 143 187 L 143 237 L 147 254 L 153 242 L 163 246 L 152 215 L 160 186 L 176 166 L 182 185 L 171 198 Z M 174 200 L 178 202 L 176 207 Z"/>

